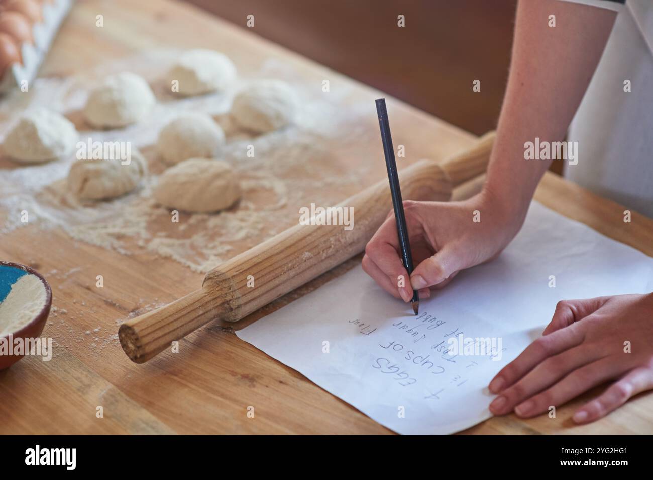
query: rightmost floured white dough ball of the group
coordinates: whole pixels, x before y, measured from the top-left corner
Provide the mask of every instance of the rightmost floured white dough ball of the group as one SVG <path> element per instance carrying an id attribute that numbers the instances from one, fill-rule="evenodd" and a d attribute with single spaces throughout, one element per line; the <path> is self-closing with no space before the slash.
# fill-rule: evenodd
<path id="1" fill-rule="evenodd" d="M 280 80 L 261 80 L 238 93 L 231 116 L 243 128 L 257 133 L 272 132 L 295 120 L 299 100 Z"/>

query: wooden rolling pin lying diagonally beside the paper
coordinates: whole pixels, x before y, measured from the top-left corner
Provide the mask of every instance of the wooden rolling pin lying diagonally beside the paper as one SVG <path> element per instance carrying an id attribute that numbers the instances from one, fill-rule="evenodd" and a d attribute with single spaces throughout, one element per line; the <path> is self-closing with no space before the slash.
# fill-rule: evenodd
<path id="1" fill-rule="evenodd" d="M 404 198 L 449 200 L 455 185 L 485 171 L 493 143 L 490 132 L 441 164 L 420 160 L 400 170 Z M 236 322 L 362 252 L 392 209 L 387 179 L 336 206 L 353 207 L 351 230 L 298 223 L 222 263 L 206 274 L 199 290 L 123 323 L 118 335 L 125 353 L 146 362 L 205 323 Z"/>

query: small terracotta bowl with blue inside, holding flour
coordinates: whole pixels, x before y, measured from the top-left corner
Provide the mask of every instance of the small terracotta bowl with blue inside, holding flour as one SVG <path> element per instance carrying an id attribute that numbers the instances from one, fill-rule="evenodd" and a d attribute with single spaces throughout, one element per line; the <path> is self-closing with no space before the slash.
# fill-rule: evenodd
<path id="1" fill-rule="evenodd" d="M 20 360 L 39 338 L 52 305 L 52 290 L 37 271 L 0 262 L 0 370 Z"/>

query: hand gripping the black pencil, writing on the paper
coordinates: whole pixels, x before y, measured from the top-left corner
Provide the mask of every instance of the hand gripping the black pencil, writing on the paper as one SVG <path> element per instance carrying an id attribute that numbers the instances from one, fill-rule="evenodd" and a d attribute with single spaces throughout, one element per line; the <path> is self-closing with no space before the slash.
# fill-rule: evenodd
<path id="1" fill-rule="evenodd" d="M 365 248 L 363 270 L 386 292 L 409 302 L 442 288 L 458 271 L 496 257 L 518 232 L 522 215 L 508 213 L 488 192 L 462 202 L 404 202 L 406 225 L 417 265 L 410 278 L 400 256 L 394 213 Z M 476 220 L 476 221 L 475 221 Z M 404 287 L 399 286 L 400 277 Z"/>

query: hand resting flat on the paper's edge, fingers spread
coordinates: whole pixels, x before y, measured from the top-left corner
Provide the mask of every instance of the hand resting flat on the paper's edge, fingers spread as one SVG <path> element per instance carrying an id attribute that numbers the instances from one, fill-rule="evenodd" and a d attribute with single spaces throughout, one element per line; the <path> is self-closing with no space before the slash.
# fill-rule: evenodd
<path id="1" fill-rule="evenodd" d="M 558 303 L 543 336 L 490 382 L 490 391 L 501 394 L 490 412 L 534 417 L 608 380 L 616 381 L 577 410 L 575 423 L 653 389 L 653 293 Z"/>

